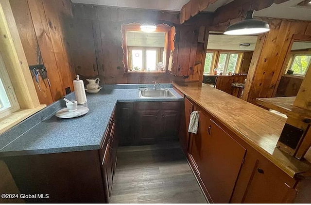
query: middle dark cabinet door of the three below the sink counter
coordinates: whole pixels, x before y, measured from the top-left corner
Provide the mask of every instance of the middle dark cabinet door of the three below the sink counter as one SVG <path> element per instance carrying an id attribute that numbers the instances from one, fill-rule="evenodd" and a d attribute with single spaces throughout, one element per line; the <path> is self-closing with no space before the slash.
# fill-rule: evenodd
<path id="1" fill-rule="evenodd" d="M 147 144 L 155 142 L 159 136 L 162 125 L 162 117 L 159 111 L 136 111 L 135 114 L 135 142 L 136 144 Z"/>

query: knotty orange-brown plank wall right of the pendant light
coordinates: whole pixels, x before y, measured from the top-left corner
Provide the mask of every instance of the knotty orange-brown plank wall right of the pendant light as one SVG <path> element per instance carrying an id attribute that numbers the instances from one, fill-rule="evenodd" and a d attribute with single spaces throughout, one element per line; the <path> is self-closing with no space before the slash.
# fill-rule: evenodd
<path id="1" fill-rule="evenodd" d="M 258 61 L 251 63 L 245 84 L 243 99 L 255 104 L 256 98 L 274 97 L 283 76 L 283 63 L 294 34 L 311 36 L 310 21 L 265 19 L 270 32 L 262 37 L 261 46 L 256 46 L 254 55 Z M 254 59 L 254 57 L 253 57 Z M 285 71 L 284 71 L 285 72 Z"/>

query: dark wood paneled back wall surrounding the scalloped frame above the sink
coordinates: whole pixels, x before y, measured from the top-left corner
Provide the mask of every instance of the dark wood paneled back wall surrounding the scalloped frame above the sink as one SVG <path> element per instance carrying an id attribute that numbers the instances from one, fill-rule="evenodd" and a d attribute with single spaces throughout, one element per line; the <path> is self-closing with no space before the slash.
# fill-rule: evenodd
<path id="1" fill-rule="evenodd" d="M 185 33 L 198 32 L 200 26 L 208 25 L 212 22 L 212 18 L 205 18 L 205 21 L 196 21 L 202 19 L 202 15 L 193 18 L 192 21 L 187 22 L 189 25 L 180 25 L 178 13 L 158 12 L 152 10 L 135 10 L 135 9 L 111 9 L 103 6 L 89 6 L 85 4 L 72 5 L 73 20 L 68 19 L 66 22 L 67 30 L 66 36 L 70 39 L 70 56 L 76 73 L 81 75 L 82 79 L 99 77 L 101 83 L 115 84 L 115 83 L 152 83 L 154 81 L 161 83 L 170 83 L 173 80 L 184 80 L 183 76 L 188 74 L 171 75 L 166 74 L 129 74 L 125 72 L 125 67 L 122 62 L 123 50 L 121 48 L 123 38 L 121 35 L 121 25 L 129 23 L 146 23 L 153 22 L 155 24 L 165 23 L 170 26 L 175 26 L 177 36 L 188 38 L 190 35 Z M 200 25 L 198 24 L 200 22 Z M 205 30 L 204 30 L 205 31 Z M 180 32 L 185 32 L 179 35 Z M 175 37 L 175 50 L 173 54 L 173 66 L 177 66 L 177 61 L 184 59 L 181 66 L 184 66 L 187 71 L 189 69 L 189 61 L 194 58 L 202 56 L 204 49 L 201 49 L 198 44 L 198 34 L 191 42 L 187 39 L 189 46 L 184 44 L 178 45 L 180 39 Z M 181 39 L 182 41 L 182 39 Z M 199 55 L 197 55 L 197 47 L 199 47 Z M 191 52 L 190 52 L 191 49 Z M 180 52 L 178 52 L 180 50 Z M 186 53 L 187 52 L 187 53 Z M 181 58 L 183 55 L 188 58 Z M 177 60 L 177 55 L 180 58 Z M 190 59 L 192 56 L 193 59 Z M 186 62 L 186 60 L 188 61 Z M 188 64 L 187 64 L 188 63 Z M 186 65 L 187 64 L 187 65 Z M 189 66 L 189 67 L 188 67 Z M 199 80 L 203 70 L 198 66 L 194 67 L 193 74 L 189 75 L 188 80 Z"/>

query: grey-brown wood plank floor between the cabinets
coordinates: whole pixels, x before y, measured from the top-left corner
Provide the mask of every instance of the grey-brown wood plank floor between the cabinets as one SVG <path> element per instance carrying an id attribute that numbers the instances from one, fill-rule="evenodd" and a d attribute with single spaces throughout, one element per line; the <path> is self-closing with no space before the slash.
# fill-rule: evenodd
<path id="1" fill-rule="evenodd" d="M 110 203 L 207 203 L 178 143 L 119 147 Z"/>

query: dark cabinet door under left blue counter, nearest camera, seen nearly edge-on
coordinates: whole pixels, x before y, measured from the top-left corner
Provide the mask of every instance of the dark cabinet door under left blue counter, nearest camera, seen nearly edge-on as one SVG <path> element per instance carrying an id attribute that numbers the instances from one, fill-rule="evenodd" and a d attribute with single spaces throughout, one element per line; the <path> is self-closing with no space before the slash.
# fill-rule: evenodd
<path id="1" fill-rule="evenodd" d="M 102 175 L 104 180 L 104 191 L 107 203 L 109 203 L 113 183 L 113 165 L 110 153 L 110 142 L 107 143 L 104 160 L 102 162 Z"/>

